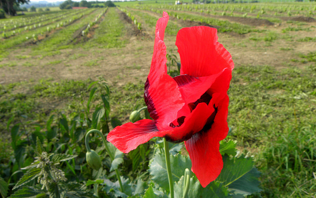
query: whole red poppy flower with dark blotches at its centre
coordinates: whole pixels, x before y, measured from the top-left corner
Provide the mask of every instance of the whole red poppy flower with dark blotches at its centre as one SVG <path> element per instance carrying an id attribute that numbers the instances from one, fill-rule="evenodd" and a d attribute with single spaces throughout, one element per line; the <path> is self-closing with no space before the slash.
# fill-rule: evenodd
<path id="1" fill-rule="evenodd" d="M 203 187 L 223 168 L 219 141 L 228 133 L 227 90 L 234 63 L 217 39 L 217 30 L 199 26 L 178 32 L 180 76 L 167 75 L 164 30 L 169 16 L 157 21 L 154 54 L 144 98 L 151 119 L 128 122 L 108 134 L 108 141 L 128 153 L 153 137 L 185 141 L 192 171 Z"/>

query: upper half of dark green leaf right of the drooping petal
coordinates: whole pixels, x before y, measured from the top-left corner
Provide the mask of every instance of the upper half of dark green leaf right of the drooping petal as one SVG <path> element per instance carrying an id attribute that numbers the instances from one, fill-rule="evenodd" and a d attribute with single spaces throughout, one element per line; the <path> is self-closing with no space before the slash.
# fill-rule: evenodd
<path id="1" fill-rule="evenodd" d="M 229 156 L 225 155 L 223 163 L 223 169 L 216 181 L 223 182 L 224 186 L 229 186 L 253 168 L 252 158 L 244 158 L 243 156 L 230 159 Z"/>

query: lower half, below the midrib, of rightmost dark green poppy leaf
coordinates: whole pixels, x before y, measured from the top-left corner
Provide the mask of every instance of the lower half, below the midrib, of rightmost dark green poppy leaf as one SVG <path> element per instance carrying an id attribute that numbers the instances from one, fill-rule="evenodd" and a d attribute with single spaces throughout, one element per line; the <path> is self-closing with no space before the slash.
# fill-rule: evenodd
<path id="1" fill-rule="evenodd" d="M 234 195 L 242 195 L 243 197 L 251 195 L 256 192 L 260 192 L 260 182 L 258 178 L 260 172 L 256 168 L 252 168 L 245 175 L 228 186 L 228 189 L 234 193 Z"/>

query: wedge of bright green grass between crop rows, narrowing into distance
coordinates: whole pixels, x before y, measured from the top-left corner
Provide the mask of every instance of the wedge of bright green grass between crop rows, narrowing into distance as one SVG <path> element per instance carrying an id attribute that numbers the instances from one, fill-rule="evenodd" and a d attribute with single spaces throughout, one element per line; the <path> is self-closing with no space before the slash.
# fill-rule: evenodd
<path id="1" fill-rule="evenodd" d="M 109 7 L 105 19 L 96 29 L 93 39 L 84 44 L 84 47 L 100 47 L 113 48 L 124 47 L 128 42 L 124 36 L 126 34 L 125 25 L 119 19 L 118 12 L 115 7 Z"/>

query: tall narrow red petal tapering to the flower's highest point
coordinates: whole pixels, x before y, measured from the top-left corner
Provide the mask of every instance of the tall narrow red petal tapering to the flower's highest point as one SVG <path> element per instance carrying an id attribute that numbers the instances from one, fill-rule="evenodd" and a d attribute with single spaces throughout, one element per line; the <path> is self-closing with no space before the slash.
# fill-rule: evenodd
<path id="1" fill-rule="evenodd" d="M 163 37 L 168 19 L 168 14 L 163 12 L 163 17 L 157 21 L 152 65 L 144 92 L 148 111 L 159 130 L 169 128 L 169 123 L 177 118 L 177 112 L 185 104 L 177 83 L 167 75 L 166 46 Z"/>

